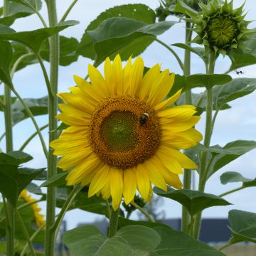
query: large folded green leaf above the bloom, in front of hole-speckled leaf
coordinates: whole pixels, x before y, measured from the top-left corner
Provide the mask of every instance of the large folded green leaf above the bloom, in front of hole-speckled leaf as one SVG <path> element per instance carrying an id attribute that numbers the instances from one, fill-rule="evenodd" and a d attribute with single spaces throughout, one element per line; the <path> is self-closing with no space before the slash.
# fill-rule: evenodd
<path id="1" fill-rule="evenodd" d="M 88 31 L 97 54 L 95 65 L 100 65 L 107 57 L 113 58 L 117 53 L 121 55 L 122 60 L 126 60 L 130 55 L 141 53 L 141 46 L 137 52 L 136 49 L 130 47 L 130 44 L 137 40 L 142 43 L 144 38 L 146 42 L 152 42 L 156 36 L 164 33 L 175 23 L 162 21 L 146 24 L 131 18 L 108 18 L 95 30 Z M 146 47 L 148 45 L 147 43 Z"/>

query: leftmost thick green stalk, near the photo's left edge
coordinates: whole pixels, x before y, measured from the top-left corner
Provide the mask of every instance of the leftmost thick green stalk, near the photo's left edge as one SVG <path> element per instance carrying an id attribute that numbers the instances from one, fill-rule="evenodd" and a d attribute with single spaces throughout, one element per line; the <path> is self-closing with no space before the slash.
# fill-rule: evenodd
<path id="1" fill-rule="evenodd" d="M 3 16 L 8 15 L 9 1 L 4 0 Z M 8 85 L 4 85 L 4 122 L 6 132 L 6 152 L 13 151 L 12 137 L 12 117 L 11 117 L 11 90 Z M 15 213 L 11 203 L 7 201 L 7 212 L 9 215 L 9 225 L 6 225 L 6 252 L 7 256 L 14 255 L 14 236 L 15 236 Z"/>

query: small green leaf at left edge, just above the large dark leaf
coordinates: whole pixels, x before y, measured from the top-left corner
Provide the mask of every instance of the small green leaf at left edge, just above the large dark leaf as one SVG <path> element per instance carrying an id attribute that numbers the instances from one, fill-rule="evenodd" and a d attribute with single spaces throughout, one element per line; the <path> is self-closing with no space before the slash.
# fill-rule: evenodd
<path id="1" fill-rule="evenodd" d="M 32 160 L 33 157 L 23 151 L 11 151 L 9 153 L 0 153 L 0 164 L 14 164 L 16 166 Z"/>

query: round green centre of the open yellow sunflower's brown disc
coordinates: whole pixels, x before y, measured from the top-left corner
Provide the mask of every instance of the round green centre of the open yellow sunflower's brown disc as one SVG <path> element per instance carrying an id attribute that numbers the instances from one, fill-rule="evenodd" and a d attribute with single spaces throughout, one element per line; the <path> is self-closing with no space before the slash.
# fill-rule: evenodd
<path id="1" fill-rule="evenodd" d="M 137 124 L 137 116 L 132 112 L 114 111 L 102 122 L 102 140 L 110 151 L 130 151 L 138 143 Z"/>

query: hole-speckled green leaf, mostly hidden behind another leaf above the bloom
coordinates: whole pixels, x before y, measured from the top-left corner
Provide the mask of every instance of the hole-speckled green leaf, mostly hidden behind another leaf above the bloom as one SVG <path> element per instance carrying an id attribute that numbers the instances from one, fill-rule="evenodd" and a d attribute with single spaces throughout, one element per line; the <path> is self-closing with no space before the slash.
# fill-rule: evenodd
<path id="1" fill-rule="evenodd" d="M 102 21 L 112 17 L 132 18 L 136 21 L 142 21 L 148 24 L 154 23 L 156 19 L 154 11 L 150 9 L 149 6 L 144 4 L 127 4 L 122 6 L 114 6 L 113 8 L 107 9 L 106 11 L 102 12 L 102 14 L 97 16 L 97 18 L 85 29 L 85 33 L 82 36 L 80 45 L 78 47 L 78 53 L 80 55 L 91 59 L 96 58 L 92 38 L 87 31 L 94 30 L 100 25 L 100 23 L 102 23 Z"/>

